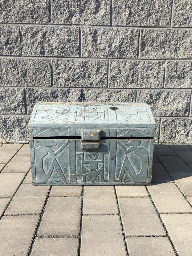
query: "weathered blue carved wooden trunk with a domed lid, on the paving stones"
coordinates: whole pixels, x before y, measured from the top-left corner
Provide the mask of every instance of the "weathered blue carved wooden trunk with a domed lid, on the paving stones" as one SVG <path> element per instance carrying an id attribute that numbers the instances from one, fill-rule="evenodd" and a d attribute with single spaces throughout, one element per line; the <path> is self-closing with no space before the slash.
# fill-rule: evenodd
<path id="1" fill-rule="evenodd" d="M 33 184 L 150 184 L 155 127 L 145 103 L 38 102 L 29 121 Z"/>

